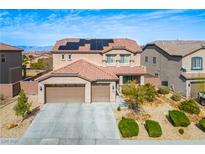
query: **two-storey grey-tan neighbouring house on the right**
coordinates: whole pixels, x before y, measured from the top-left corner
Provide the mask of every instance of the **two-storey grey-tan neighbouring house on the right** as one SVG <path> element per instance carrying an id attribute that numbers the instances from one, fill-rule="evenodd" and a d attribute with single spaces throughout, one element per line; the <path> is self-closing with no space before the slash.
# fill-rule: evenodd
<path id="1" fill-rule="evenodd" d="M 205 41 L 155 41 L 143 48 L 141 64 L 162 85 L 196 97 L 205 82 Z"/>

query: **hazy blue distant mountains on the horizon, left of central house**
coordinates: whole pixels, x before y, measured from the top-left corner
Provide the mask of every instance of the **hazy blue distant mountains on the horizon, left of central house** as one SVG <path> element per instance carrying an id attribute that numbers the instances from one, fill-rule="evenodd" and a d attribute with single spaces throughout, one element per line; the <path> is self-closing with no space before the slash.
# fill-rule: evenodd
<path id="1" fill-rule="evenodd" d="M 24 49 L 24 52 L 45 52 L 51 51 L 52 46 L 25 46 L 20 45 L 19 48 Z"/>

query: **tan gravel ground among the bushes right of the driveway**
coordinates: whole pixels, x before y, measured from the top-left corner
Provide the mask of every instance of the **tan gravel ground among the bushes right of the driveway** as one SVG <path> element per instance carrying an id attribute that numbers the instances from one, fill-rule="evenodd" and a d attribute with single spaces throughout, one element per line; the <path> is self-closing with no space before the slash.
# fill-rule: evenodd
<path id="1" fill-rule="evenodd" d="M 201 113 L 199 115 L 186 114 L 191 120 L 191 125 L 187 128 L 174 127 L 169 119 L 167 118 L 168 111 L 177 109 L 179 102 L 175 102 L 169 98 L 170 96 L 160 96 L 157 98 L 157 103 L 143 104 L 139 113 L 134 113 L 129 109 L 123 109 L 122 111 L 114 110 L 117 122 L 124 117 L 130 117 L 137 121 L 139 124 L 139 135 L 129 139 L 140 139 L 140 140 L 197 140 L 205 139 L 205 132 L 200 130 L 196 124 L 204 117 L 205 108 L 201 107 Z M 161 103 L 159 103 L 161 102 Z M 153 105 L 155 104 L 155 105 Z M 148 136 L 147 131 L 144 127 L 146 119 L 156 120 L 162 127 L 162 136 L 159 138 L 151 138 Z M 179 133 L 179 129 L 184 130 L 184 134 Z"/>

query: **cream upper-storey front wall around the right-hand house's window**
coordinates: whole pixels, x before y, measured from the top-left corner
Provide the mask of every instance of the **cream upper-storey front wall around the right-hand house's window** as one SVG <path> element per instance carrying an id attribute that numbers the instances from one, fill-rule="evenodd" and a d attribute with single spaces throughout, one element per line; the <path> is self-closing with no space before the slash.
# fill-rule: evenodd
<path id="1" fill-rule="evenodd" d="M 191 59 L 192 57 L 202 57 L 203 58 L 203 70 L 191 70 Z M 182 67 L 190 73 L 205 73 L 205 49 L 198 50 L 182 59 Z"/>

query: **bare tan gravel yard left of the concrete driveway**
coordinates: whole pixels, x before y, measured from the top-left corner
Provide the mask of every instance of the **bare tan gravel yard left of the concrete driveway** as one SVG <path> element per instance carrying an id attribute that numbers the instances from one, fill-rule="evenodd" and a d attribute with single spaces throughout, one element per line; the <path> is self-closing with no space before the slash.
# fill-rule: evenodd
<path id="1" fill-rule="evenodd" d="M 17 117 L 13 110 L 16 101 L 0 109 L 0 138 L 20 138 L 25 133 L 40 109 L 37 95 L 28 95 L 28 101 L 32 102 L 32 112 L 22 123 L 20 123 L 21 117 Z M 10 124 L 18 124 L 18 126 L 7 129 Z"/>

